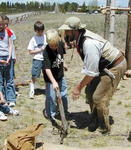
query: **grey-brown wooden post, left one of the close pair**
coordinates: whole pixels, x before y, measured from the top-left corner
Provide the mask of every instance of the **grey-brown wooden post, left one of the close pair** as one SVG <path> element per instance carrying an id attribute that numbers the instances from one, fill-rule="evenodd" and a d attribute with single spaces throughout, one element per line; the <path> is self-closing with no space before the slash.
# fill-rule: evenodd
<path id="1" fill-rule="evenodd" d="M 106 0 L 106 7 L 110 8 L 111 0 Z M 105 27 L 104 27 L 104 38 L 109 40 L 109 30 L 110 30 L 110 10 L 105 14 Z"/>

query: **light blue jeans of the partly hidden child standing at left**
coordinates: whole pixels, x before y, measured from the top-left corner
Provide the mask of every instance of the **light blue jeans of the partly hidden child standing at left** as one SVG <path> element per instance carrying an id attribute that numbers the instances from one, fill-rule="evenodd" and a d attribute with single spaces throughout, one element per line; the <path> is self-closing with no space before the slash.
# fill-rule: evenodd
<path id="1" fill-rule="evenodd" d="M 16 102 L 16 91 L 15 91 L 15 84 L 14 84 L 14 59 L 10 60 L 10 79 L 6 85 L 5 89 L 5 98 L 8 102 Z"/>

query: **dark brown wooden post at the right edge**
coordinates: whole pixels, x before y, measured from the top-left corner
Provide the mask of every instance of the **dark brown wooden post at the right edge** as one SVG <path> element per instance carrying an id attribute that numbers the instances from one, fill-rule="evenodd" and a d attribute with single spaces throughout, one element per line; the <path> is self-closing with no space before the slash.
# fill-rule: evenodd
<path id="1" fill-rule="evenodd" d="M 129 7 L 131 8 L 131 0 L 129 0 Z M 131 77 L 131 11 L 128 12 L 127 21 L 127 36 L 126 36 L 126 60 L 127 60 L 127 77 Z"/>

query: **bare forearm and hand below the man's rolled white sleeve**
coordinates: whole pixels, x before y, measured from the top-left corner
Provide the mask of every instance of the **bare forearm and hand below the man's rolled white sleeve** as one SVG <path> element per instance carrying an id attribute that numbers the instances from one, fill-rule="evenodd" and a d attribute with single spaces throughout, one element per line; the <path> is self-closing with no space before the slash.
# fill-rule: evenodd
<path id="1" fill-rule="evenodd" d="M 94 77 L 91 76 L 85 76 L 82 81 L 74 88 L 73 92 L 72 92 L 72 98 L 73 100 L 76 100 L 79 98 L 81 90 L 88 85 Z"/>

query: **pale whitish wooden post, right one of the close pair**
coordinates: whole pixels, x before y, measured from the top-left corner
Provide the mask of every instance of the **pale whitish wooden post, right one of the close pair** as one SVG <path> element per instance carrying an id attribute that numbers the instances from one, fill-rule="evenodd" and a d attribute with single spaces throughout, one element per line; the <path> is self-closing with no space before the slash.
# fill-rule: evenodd
<path id="1" fill-rule="evenodd" d="M 115 7 L 115 0 L 111 0 L 111 7 Z M 114 45 L 114 34 L 115 34 L 115 11 L 111 10 L 110 14 L 110 37 L 109 41 Z"/>

